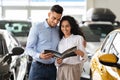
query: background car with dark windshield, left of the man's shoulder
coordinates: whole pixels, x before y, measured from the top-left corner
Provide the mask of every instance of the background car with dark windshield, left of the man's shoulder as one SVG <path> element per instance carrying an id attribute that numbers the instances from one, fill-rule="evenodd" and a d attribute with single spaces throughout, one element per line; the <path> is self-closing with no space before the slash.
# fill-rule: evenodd
<path id="1" fill-rule="evenodd" d="M 32 22 L 29 20 L 0 20 L 0 29 L 10 31 L 24 47 L 31 26 Z"/>

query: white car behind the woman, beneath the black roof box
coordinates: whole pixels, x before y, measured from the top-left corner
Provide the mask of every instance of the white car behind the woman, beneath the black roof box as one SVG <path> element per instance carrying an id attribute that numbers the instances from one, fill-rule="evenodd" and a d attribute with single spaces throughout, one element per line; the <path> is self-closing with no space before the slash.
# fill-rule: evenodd
<path id="1" fill-rule="evenodd" d="M 98 25 L 98 26 L 97 26 Z M 90 79 L 90 60 L 94 55 L 97 48 L 100 46 L 101 42 L 104 40 L 106 35 L 116 29 L 112 25 L 108 24 L 97 24 L 96 26 L 84 26 L 81 27 L 83 31 L 87 44 L 86 44 L 86 52 L 88 54 L 88 60 L 84 63 L 82 78 Z M 106 26 L 108 25 L 108 26 Z"/>

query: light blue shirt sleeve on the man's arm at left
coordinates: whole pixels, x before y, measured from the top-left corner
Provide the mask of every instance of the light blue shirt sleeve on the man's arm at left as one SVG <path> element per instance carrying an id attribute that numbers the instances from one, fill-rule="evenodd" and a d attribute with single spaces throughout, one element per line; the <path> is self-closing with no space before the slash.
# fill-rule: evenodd
<path id="1" fill-rule="evenodd" d="M 27 39 L 27 45 L 25 48 L 25 53 L 32 56 L 33 58 L 39 58 L 39 52 L 37 52 L 34 48 L 37 43 L 37 26 L 36 24 L 33 24 L 33 26 L 30 29 L 28 39 Z"/>

